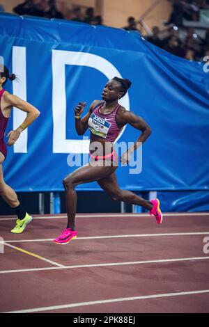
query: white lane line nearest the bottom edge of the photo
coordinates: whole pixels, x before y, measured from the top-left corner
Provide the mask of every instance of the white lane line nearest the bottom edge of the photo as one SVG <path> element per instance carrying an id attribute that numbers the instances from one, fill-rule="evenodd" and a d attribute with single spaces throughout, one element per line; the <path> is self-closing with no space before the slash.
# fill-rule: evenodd
<path id="1" fill-rule="evenodd" d="M 206 293 L 209 293 L 209 289 L 202 289 L 200 291 L 191 291 L 191 292 L 176 292 L 176 293 L 153 294 L 153 295 L 145 295 L 145 296 L 132 296 L 132 297 L 128 297 L 128 298 L 109 298 L 107 300 L 70 303 L 70 304 L 64 304 L 64 305 L 54 305 L 51 307 L 32 308 L 32 309 L 26 309 L 26 310 L 4 312 L 4 313 L 29 313 L 29 312 L 40 312 L 40 311 L 50 311 L 50 310 L 61 310 L 61 309 L 67 309 L 67 308 L 82 307 L 84 305 L 97 305 L 97 304 L 105 304 L 105 303 L 146 300 L 148 298 L 166 298 L 169 296 L 183 296 L 183 295 L 185 296 L 185 295 L 206 294 Z"/>

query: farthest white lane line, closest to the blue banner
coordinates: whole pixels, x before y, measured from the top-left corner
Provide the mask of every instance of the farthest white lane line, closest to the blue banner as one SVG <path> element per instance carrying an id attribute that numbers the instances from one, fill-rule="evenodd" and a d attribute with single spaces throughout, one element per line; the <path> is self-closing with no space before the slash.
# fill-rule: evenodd
<path id="1" fill-rule="evenodd" d="M 209 216 L 209 212 L 185 212 L 185 213 L 164 213 L 164 217 L 169 216 Z M 150 217 L 150 214 L 77 214 L 76 218 L 124 218 L 124 217 Z M 56 219 L 56 218 L 67 218 L 67 215 L 57 215 L 57 216 L 36 216 L 33 219 Z M 17 220 L 17 217 L 1 218 L 0 221 L 9 221 L 9 220 Z"/>

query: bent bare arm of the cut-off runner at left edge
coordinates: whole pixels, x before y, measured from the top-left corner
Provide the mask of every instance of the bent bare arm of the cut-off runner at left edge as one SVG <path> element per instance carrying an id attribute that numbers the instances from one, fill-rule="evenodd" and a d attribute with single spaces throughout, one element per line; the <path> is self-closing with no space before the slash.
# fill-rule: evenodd
<path id="1" fill-rule="evenodd" d="M 22 131 L 24 131 L 26 127 L 29 127 L 29 125 L 31 125 L 32 122 L 34 122 L 34 120 L 38 118 L 38 116 L 40 115 L 40 111 L 38 111 L 38 109 L 36 109 L 35 106 L 32 106 L 32 104 L 29 104 L 29 102 L 26 102 L 20 99 L 20 97 L 17 97 L 17 95 L 11 95 L 10 93 L 6 93 L 3 99 L 8 105 L 8 107 L 16 107 L 21 111 L 27 113 L 24 122 L 22 122 L 22 124 L 19 127 L 17 127 L 17 129 L 15 129 L 14 131 L 10 131 L 7 135 L 7 137 L 9 138 L 7 144 L 13 145 L 19 138 Z"/>

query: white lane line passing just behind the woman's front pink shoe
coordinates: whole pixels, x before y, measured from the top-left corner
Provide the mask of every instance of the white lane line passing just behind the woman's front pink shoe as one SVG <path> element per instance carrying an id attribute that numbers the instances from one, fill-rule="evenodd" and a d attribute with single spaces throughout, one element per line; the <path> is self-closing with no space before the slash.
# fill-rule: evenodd
<path id="1" fill-rule="evenodd" d="M 123 237 L 159 237 L 159 236 L 190 236 L 190 235 L 208 235 L 209 232 L 185 232 L 185 233 L 163 233 L 163 234 L 128 234 L 128 235 L 107 235 L 92 237 L 77 237 L 79 239 L 121 239 Z M 6 241 L 8 243 L 24 243 L 24 242 L 44 242 L 53 241 L 53 239 L 15 239 Z M 3 241 L 0 241 L 0 244 Z"/>

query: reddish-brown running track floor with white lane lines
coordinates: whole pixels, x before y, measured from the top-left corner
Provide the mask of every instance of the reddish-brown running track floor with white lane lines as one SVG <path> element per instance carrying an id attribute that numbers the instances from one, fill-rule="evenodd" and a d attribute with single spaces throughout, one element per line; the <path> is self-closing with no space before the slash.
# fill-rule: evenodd
<path id="1" fill-rule="evenodd" d="M 65 246 L 45 241 L 65 227 L 65 215 L 55 217 L 36 216 L 15 235 L 15 219 L 0 216 L 1 312 L 209 312 L 209 213 L 165 214 L 162 225 L 144 215 L 78 215 L 78 237 Z"/>

